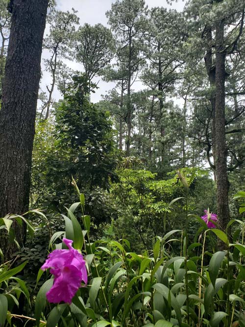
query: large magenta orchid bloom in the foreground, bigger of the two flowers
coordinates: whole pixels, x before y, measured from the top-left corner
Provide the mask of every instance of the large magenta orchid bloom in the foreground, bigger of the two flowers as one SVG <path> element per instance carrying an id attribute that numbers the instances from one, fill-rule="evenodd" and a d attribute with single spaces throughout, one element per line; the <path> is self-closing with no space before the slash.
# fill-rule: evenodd
<path id="1" fill-rule="evenodd" d="M 88 276 L 85 260 L 82 254 L 73 249 L 73 241 L 63 238 L 63 242 L 69 250 L 54 250 L 49 253 L 41 269 L 51 268 L 50 273 L 54 275 L 53 286 L 46 294 L 48 301 L 51 303 L 63 301 L 71 304 L 81 281 L 86 284 Z"/>

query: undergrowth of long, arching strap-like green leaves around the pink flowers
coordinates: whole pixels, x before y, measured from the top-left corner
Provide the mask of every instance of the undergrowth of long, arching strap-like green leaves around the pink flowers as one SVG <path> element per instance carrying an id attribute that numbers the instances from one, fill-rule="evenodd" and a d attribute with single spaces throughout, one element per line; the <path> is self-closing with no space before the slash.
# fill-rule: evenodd
<path id="1" fill-rule="evenodd" d="M 73 248 L 86 260 L 88 284 L 81 284 L 72 304 L 49 303 L 46 293 L 54 279 L 49 272 L 40 270 L 37 283 L 45 276 L 47 279 L 36 296 L 35 309 L 29 317 L 34 325 L 30 326 L 245 326 L 242 220 L 230 221 L 228 228 L 232 226 L 234 230 L 231 240 L 218 227 L 209 229 L 200 217 L 188 216 L 200 226 L 198 242 L 188 244 L 186 231 L 176 229 L 156 237 L 151 251 L 137 254 L 131 252 L 126 239 L 114 237 L 112 226 L 104 238 L 91 242 L 90 217 L 84 213 L 83 194 L 78 189 L 77 192 L 80 201 L 67 208 L 67 215 L 63 215 L 65 230 L 51 237 L 49 251 L 65 249 L 63 236 L 73 240 Z M 6 221 L 1 224 L 7 228 Z M 223 242 L 225 250 L 216 251 L 217 240 Z M 179 255 L 172 256 L 176 244 Z M 11 278 L 19 282 L 16 301 L 17 290 L 28 298 L 24 281 L 13 277 L 21 268 L 0 271 L 1 327 L 10 325 L 10 318 L 17 316 L 7 311 L 13 307 L 8 307 L 7 301 L 13 298 L 8 286 Z M 23 321 L 29 318 L 22 317 Z"/>

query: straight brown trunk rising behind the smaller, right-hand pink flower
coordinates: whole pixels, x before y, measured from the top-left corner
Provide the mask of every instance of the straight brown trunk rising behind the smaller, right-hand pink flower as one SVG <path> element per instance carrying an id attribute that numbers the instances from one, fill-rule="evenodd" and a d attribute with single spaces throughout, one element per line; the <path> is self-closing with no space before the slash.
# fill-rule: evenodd
<path id="1" fill-rule="evenodd" d="M 225 143 L 225 50 L 224 21 L 216 25 L 216 174 L 217 174 L 217 208 L 219 225 L 225 229 L 229 222 L 227 149 Z"/>

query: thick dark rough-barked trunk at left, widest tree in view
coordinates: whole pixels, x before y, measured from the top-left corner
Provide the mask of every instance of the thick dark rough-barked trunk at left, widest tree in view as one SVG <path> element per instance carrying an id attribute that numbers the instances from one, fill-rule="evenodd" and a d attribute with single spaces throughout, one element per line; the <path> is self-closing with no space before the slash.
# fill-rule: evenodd
<path id="1" fill-rule="evenodd" d="M 14 0 L 0 111 L 0 217 L 28 210 L 43 34 L 49 0 Z M 17 232 L 17 241 L 20 231 Z M 11 257 L 1 239 L 2 250 Z M 2 244 L 3 243 L 3 244 Z"/>

